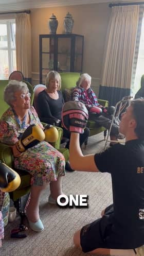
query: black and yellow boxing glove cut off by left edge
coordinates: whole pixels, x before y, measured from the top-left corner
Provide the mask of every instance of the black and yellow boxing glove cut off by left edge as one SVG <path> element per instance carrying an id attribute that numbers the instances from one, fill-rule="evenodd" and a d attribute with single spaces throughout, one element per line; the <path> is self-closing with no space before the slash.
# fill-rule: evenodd
<path id="1" fill-rule="evenodd" d="M 21 184 L 21 178 L 13 169 L 0 161 L 0 190 L 12 192 Z"/>

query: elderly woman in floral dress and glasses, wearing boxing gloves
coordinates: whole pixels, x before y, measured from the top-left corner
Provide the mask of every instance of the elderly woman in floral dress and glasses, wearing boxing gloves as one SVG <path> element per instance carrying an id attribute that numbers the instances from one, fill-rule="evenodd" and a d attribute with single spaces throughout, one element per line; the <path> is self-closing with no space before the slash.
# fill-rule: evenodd
<path id="1" fill-rule="evenodd" d="M 31 196 L 26 216 L 34 231 L 42 231 L 44 226 L 39 215 L 39 200 L 42 191 L 50 183 L 49 203 L 56 203 L 62 194 L 62 176 L 65 176 L 63 155 L 46 141 L 20 152 L 17 141 L 29 125 L 36 124 L 43 129 L 37 112 L 30 106 L 30 93 L 25 82 L 9 81 L 4 99 L 10 106 L 0 120 L 0 141 L 12 147 L 14 167 L 26 169 L 31 174 Z"/>

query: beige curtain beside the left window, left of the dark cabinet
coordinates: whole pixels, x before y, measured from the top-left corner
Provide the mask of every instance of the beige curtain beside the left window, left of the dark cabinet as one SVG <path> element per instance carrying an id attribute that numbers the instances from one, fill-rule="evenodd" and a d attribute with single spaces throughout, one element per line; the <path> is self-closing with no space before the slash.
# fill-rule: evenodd
<path id="1" fill-rule="evenodd" d="M 26 80 L 31 80 L 31 25 L 30 14 L 16 14 L 16 67 Z"/>

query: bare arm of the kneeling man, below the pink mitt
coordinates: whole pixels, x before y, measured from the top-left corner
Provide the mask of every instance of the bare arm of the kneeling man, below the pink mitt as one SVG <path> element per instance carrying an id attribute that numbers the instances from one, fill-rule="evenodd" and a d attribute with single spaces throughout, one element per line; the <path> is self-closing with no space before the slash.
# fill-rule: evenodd
<path id="1" fill-rule="evenodd" d="M 99 172 L 94 155 L 83 156 L 79 143 L 79 133 L 71 132 L 69 146 L 69 161 L 71 168 L 85 172 Z"/>

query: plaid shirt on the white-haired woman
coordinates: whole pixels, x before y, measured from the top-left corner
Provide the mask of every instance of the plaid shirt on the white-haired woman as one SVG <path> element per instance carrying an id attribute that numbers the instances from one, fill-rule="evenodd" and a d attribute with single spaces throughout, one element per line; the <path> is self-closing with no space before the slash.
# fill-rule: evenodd
<path id="1" fill-rule="evenodd" d="M 88 110 L 99 105 L 96 94 L 91 88 L 88 88 L 88 90 L 84 90 L 82 87 L 75 88 L 73 91 L 73 100 L 81 101 Z"/>

